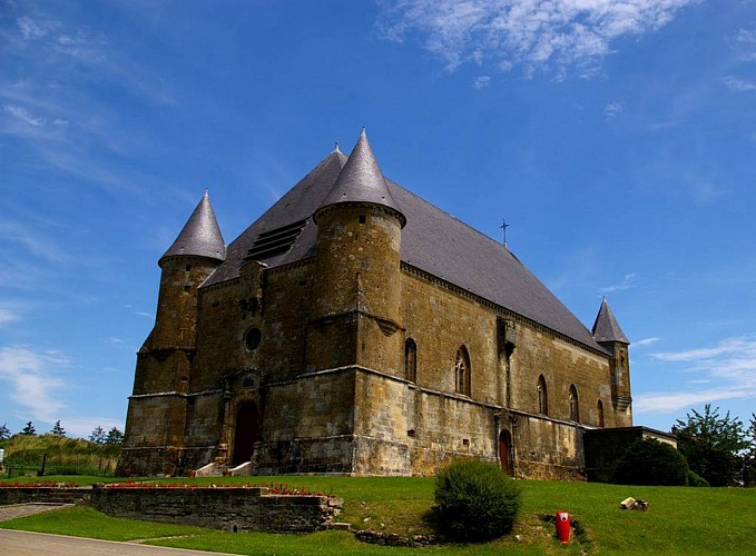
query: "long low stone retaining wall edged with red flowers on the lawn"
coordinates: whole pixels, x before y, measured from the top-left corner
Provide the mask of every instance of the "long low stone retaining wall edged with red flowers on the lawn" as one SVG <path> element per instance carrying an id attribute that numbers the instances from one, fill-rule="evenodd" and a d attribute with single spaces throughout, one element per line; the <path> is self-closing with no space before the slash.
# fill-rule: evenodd
<path id="1" fill-rule="evenodd" d="M 268 494 L 265 487 L 141 488 L 95 485 L 92 506 L 114 517 L 224 530 L 311 533 L 327 528 L 341 498 Z"/>

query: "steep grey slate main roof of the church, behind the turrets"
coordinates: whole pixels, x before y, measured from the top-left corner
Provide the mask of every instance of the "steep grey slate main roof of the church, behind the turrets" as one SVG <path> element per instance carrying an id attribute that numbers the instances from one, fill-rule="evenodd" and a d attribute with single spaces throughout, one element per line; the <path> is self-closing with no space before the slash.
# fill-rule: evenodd
<path id="1" fill-rule="evenodd" d="M 298 220 L 306 220 L 306 224 L 292 248 L 285 254 L 258 260 L 268 267 L 276 267 L 314 255 L 316 225 L 313 215 L 320 207 L 333 201 L 330 195 L 337 191 L 334 186 L 347 166 L 347 157 L 341 151 L 336 149 L 331 152 L 228 246 L 225 262 L 218 266 L 204 286 L 237 277 L 245 256 L 261 234 Z M 375 179 L 373 173 L 370 176 Z M 385 178 L 384 183 L 391 201 L 395 203 L 394 208 L 406 218 L 406 226 L 402 230 L 402 261 L 580 344 L 605 351 L 580 320 L 507 247 L 399 183 Z M 359 182 L 350 181 L 347 186 L 348 190 L 353 190 Z"/>

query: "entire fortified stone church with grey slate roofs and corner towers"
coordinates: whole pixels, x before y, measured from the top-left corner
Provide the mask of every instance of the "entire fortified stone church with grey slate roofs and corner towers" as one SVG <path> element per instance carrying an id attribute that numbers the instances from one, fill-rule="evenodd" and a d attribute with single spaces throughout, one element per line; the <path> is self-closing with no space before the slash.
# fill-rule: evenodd
<path id="1" fill-rule="evenodd" d="M 228 246 L 205 196 L 161 269 L 120 475 L 430 475 L 452 457 L 583 478 L 632 425 L 628 339 L 385 178 L 364 131 Z"/>

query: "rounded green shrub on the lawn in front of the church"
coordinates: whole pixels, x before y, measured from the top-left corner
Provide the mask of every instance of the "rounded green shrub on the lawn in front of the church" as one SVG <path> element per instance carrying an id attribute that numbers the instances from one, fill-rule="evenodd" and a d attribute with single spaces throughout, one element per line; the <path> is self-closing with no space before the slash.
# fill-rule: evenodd
<path id="1" fill-rule="evenodd" d="M 494 464 L 456 459 L 435 480 L 435 520 L 441 534 L 488 540 L 512 530 L 519 486 Z"/>

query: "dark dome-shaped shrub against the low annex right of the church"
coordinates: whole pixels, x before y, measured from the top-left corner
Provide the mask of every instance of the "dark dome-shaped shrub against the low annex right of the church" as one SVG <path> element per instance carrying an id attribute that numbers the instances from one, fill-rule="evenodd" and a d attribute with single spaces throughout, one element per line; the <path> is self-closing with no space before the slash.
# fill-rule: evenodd
<path id="1" fill-rule="evenodd" d="M 628 446 L 617 463 L 612 483 L 685 486 L 688 470 L 685 456 L 672 446 L 646 438 Z"/>

